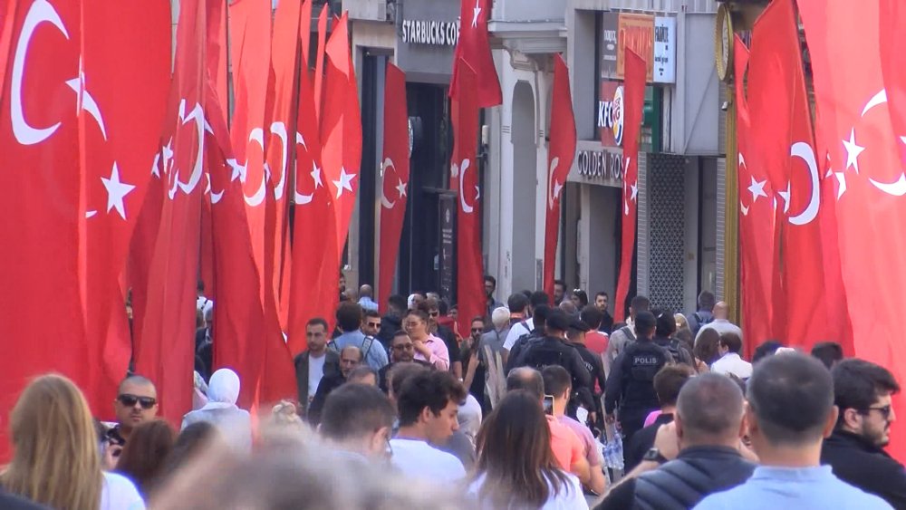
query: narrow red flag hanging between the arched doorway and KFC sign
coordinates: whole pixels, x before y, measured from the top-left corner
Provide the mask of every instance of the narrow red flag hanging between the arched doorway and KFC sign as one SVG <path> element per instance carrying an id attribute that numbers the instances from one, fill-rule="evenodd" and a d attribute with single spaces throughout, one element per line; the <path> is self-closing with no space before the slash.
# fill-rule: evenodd
<path id="1" fill-rule="evenodd" d="M 547 214 L 545 222 L 545 293 L 554 295 L 554 265 L 560 235 L 560 197 L 575 157 L 575 116 L 569 69 L 554 55 L 554 98 L 551 101 L 551 142 L 547 150 Z"/>

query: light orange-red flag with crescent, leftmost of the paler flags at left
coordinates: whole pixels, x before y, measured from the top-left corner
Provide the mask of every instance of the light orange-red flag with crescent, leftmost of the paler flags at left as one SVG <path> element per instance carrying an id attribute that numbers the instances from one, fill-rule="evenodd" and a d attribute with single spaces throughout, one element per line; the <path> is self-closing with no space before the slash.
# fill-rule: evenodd
<path id="1" fill-rule="evenodd" d="M 230 54 L 233 63 L 235 108 L 230 126 L 235 161 L 233 172 L 243 183 L 248 229 L 255 253 L 255 265 L 262 279 L 261 300 L 265 302 L 265 217 L 267 176 L 265 138 L 267 83 L 271 55 L 271 3 L 269 0 L 236 0 L 229 5 Z"/>

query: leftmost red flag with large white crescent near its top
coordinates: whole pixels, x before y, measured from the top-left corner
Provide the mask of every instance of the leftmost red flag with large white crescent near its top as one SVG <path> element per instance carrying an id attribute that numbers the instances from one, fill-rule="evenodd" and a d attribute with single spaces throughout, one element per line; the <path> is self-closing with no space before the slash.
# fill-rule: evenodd
<path id="1" fill-rule="evenodd" d="M 84 332 L 79 110 L 68 84 L 80 75 L 80 5 L 12 4 L 14 10 L 5 11 L 11 16 L 4 31 L 9 53 L 2 55 L 6 78 L 0 93 L 4 424 L 32 377 L 55 370 L 82 388 L 94 388 L 92 365 L 101 363 L 100 339 L 86 338 Z M 100 409 L 95 396 L 86 396 Z M 8 425 L 0 428 L 2 457 L 9 445 L 7 430 Z"/>

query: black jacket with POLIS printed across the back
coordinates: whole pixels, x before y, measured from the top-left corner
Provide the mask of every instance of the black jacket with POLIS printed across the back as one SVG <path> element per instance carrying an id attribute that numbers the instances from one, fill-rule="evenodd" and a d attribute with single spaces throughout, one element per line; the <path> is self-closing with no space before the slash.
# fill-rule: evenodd
<path id="1" fill-rule="evenodd" d="M 604 411 L 612 414 L 618 402 L 622 409 L 659 409 L 654 374 L 671 359 L 670 352 L 654 342 L 630 342 L 611 366 L 604 390 Z"/>

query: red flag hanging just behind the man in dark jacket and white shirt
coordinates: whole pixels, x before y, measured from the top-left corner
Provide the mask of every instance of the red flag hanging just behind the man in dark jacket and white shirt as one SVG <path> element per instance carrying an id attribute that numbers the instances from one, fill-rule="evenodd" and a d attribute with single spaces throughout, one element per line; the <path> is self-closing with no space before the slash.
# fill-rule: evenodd
<path id="1" fill-rule="evenodd" d="M 307 27 L 303 27 L 307 34 Z M 308 74 L 299 75 L 299 111 L 295 133 L 294 246 L 290 285 L 289 347 L 307 347 L 305 323 L 314 317 L 333 322 L 340 301 L 340 255 L 337 252 L 333 195 L 321 162 L 314 95 Z M 306 396 L 304 396 L 306 397 Z"/>

